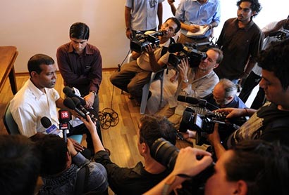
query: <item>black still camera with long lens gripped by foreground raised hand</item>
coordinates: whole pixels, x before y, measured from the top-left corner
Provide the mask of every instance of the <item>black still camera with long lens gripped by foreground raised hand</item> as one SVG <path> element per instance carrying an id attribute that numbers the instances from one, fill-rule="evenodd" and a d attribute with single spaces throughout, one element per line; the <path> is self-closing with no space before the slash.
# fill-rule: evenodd
<path id="1" fill-rule="evenodd" d="M 173 170 L 178 152 L 179 149 L 164 138 L 154 141 L 152 147 L 150 147 L 151 156 L 163 166 L 166 166 L 168 170 Z M 197 156 L 197 159 L 202 159 L 202 156 Z M 214 163 L 211 163 L 201 173 L 184 182 L 182 184 L 183 188 L 178 189 L 178 194 L 204 194 L 204 185 L 213 174 Z"/>

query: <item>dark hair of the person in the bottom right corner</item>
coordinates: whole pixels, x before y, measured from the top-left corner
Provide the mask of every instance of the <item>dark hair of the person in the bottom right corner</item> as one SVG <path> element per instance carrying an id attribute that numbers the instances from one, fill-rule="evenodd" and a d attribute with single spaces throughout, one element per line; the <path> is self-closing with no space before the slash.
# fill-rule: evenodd
<path id="1" fill-rule="evenodd" d="M 289 194 L 289 148 L 278 142 L 240 142 L 225 169 L 228 181 L 247 183 L 248 195 Z"/>

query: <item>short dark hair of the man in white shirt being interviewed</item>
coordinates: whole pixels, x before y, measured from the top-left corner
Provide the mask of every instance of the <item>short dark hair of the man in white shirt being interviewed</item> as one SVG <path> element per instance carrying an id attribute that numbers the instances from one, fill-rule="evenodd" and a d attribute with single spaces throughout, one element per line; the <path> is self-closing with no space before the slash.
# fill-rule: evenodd
<path id="1" fill-rule="evenodd" d="M 29 74 L 31 76 L 31 72 L 35 71 L 37 74 L 42 72 L 40 65 L 54 65 L 54 60 L 45 54 L 36 54 L 33 55 L 27 64 Z"/>

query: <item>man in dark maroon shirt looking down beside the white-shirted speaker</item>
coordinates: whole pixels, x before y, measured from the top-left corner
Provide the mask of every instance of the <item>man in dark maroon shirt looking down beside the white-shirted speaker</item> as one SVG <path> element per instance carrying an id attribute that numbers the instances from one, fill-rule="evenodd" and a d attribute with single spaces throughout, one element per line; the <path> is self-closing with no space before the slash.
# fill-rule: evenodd
<path id="1" fill-rule="evenodd" d="M 78 88 L 87 108 L 99 112 L 99 86 L 102 82 L 102 56 L 99 49 L 87 43 L 90 28 L 82 22 L 69 30 L 70 42 L 57 49 L 56 57 L 64 85 Z"/>

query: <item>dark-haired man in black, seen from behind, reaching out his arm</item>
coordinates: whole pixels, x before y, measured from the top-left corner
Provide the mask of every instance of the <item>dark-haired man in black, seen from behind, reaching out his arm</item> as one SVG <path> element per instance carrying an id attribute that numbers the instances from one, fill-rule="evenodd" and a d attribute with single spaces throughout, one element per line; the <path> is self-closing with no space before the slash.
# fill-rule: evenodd
<path id="1" fill-rule="evenodd" d="M 134 168 L 121 168 L 111 162 L 109 155 L 104 151 L 102 142 L 99 140 L 95 125 L 87 116 L 82 119 L 92 134 L 94 142 L 94 161 L 102 163 L 106 168 L 109 177 L 109 187 L 115 194 L 142 194 L 154 187 L 169 174 L 168 169 L 152 158 L 150 148 L 155 140 L 163 137 L 172 144 L 176 144 L 176 130 L 173 125 L 164 117 L 144 115 L 140 118 L 140 130 L 137 132 L 137 149 L 144 157 L 142 162 L 137 163 Z"/>

